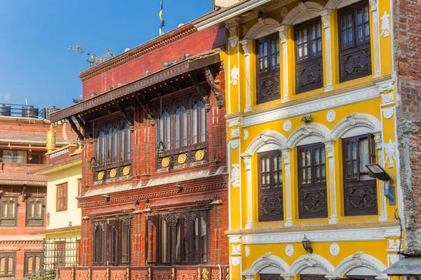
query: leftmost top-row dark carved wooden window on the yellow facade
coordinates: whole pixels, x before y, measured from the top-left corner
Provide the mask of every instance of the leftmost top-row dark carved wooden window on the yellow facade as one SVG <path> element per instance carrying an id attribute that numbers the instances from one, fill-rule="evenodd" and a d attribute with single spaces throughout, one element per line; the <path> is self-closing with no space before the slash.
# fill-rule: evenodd
<path id="1" fill-rule="evenodd" d="M 279 90 L 279 34 L 256 40 L 258 93 L 256 103 L 262 104 L 281 98 Z"/>

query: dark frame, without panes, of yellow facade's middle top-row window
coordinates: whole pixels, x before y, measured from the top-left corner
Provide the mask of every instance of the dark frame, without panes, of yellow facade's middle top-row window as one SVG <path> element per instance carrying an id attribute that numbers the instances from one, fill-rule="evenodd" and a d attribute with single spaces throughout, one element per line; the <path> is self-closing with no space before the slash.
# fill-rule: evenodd
<path id="1" fill-rule="evenodd" d="M 315 27 L 315 38 L 312 38 L 312 27 Z M 318 29 L 319 28 L 319 29 Z M 321 18 L 313 18 L 298 25 L 294 25 L 294 45 L 295 45 L 295 94 L 316 90 L 323 87 L 323 40 Z M 300 31 L 307 32 L 307 57 L 299 59 L 298 48 L 305 43 L 298 43 Z M 320 35 L 318 35 L 320 30 Z M 319 49 L 318 42 L 321 42 Z M 312 43 L 316 44 L 316 55 L 312 54 Z M 320 52 L 320 53 L 319 53 Z M 314 69 L 319 71 L 319 76 L 314 76 Z M 307 83 L 302 79 L 307 73 Z M 310 75 L 311 74 L 311 75 Z M 309 79 L 313 80 L 309 82 Z"/>

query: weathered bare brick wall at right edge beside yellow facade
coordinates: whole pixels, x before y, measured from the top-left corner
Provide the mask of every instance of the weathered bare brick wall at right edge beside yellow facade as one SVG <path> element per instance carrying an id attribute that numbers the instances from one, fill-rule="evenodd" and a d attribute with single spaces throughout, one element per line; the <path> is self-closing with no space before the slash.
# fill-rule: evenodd
<path id="1" fill-rule="evenodd" d="M 421 0 L 394 0 L 398 142 L 406 253 L 421 254 Z M 402 216 L 402 214 L 401 214 Z"/>

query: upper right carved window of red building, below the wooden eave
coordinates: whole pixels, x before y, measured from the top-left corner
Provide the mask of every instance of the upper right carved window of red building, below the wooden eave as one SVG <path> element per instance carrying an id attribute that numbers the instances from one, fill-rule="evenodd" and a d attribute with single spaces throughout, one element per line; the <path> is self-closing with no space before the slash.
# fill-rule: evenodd
<path id="1" fill-rule="evenodd" d="M 189 147 L 203 146 L 206 142 L 206 109 L 199 97 L 193 97 L 179 104 L 166 104 L 157 127 L 156 146 L 160 143 L 164 156 L 178 151 L 188 151 Z"/>

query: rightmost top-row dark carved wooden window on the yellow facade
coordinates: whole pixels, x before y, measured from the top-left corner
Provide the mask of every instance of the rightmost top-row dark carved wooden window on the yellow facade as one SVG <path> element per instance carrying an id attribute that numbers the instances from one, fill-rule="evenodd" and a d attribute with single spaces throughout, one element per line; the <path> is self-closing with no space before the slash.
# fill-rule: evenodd
<path id="1" fill-rule="evenodd" d="M 368 1 L 338 10 L 340 82 L 371 74 Z"/>

